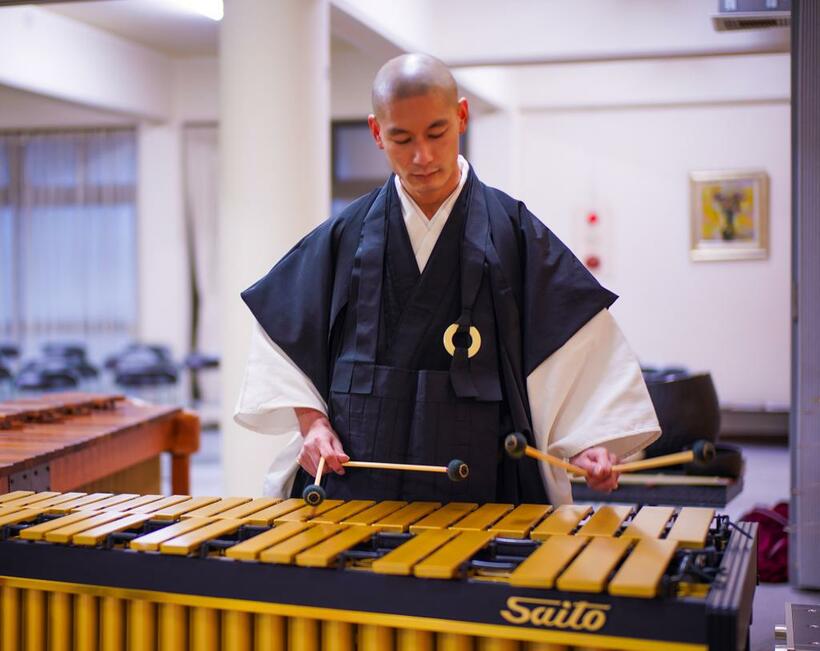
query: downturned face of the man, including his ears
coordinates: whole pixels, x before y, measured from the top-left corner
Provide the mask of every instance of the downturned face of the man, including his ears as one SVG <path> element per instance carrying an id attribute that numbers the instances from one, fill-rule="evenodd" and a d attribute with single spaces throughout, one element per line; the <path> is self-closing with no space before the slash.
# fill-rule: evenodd
<path id="1" fill-rule="evenodd" d="M 439 92 L 395 100 L 368 119 L 373 138 L 417 203 L 443 201 L 458 185 L 458 138 L 467 129 L 467 100 Z"/>

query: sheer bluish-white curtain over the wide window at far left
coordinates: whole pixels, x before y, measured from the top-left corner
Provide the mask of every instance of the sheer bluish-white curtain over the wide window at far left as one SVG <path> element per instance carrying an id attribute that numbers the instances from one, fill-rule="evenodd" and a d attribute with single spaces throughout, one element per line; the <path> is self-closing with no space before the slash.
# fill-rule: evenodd
<path id="1" fill-rule="evenodd" d="M 100 359 L 133 337 L 131 129 L 0 134 L 0 338 L 31 355 L 79 341 Z"/>

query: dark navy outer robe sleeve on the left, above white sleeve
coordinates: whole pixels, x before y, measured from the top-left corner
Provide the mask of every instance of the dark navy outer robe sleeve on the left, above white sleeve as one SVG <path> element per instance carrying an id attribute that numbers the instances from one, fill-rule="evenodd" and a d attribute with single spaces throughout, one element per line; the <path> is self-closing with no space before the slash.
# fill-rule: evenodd
<path id="1" fill-rule="evenodd" d="M 330 336 L 347 302 L 361 220 L 374 193 L 306 235 L 242 292 L 259 325 L 328 399 Z"/>

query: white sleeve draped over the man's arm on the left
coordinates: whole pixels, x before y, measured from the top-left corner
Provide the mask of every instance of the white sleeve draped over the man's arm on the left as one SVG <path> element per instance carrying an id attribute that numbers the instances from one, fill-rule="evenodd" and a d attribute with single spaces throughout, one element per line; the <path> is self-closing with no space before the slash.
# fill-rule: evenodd
<path id="1" fill-rule="evenodd" d="M 290 434 L 299 430 L 294 407 L 327 414 L 313 382 L 254 322 L 234 421 L 260 434 Z"/>

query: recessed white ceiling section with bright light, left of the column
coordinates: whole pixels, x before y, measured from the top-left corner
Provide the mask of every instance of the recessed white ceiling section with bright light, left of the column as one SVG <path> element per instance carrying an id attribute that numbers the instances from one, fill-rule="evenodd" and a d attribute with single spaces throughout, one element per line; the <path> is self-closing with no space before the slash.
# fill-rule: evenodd
<path id="1" fill-rule="evenodd" d="M 42 8 L 173 57 L 216 56 L 219 48 L 219 22 L 162 0 L 59 2 Z"/>

